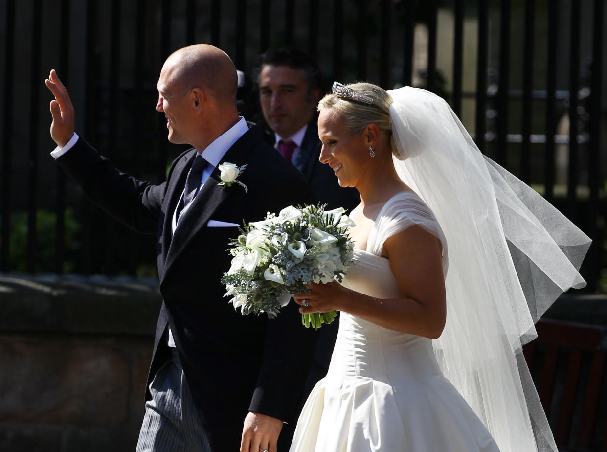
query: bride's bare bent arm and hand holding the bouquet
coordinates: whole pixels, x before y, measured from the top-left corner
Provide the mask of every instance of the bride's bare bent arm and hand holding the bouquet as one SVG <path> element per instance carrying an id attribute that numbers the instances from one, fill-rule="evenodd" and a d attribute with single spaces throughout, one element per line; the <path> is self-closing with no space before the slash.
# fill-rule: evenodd
<path id="1" fill-rule="evenodd" d="M 339 283 L 317 284 L 310 294 L 294 297 L 309 306 L 300 312 L 350 312 L 368 322 L 396 331 L 436 339 L 446 320 L 446 296 L 439 240 L 419 226 L 411 226 L 384 242 L 390 268 L 401 288 L 402 298 L 377 299 L 354 292 Z"/>

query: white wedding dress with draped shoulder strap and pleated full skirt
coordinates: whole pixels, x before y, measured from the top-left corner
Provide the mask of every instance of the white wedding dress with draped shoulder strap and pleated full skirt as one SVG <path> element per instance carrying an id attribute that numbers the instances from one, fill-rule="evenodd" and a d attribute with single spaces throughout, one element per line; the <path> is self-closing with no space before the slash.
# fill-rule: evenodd
<path id="1" fill-rule="evenodd" d="M 354 250 L 344 286 L 378 299 L 402 297 L 387 258 L 387 237 L 418 224 L 447 244 L 434 215 L 413 192 L 382 208 L 367 250 Z M 481 420 L 444 377 L 432 340 L 342 312 L 327 376 L 302 410 L 291 452 L 495 452 Z"/>

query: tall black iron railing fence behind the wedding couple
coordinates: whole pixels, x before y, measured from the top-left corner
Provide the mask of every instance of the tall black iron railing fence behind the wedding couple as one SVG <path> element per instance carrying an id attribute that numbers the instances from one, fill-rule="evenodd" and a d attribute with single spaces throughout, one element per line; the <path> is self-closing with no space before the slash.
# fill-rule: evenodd
<path id="1" fill-rule="evenodd" d="M 83 200 L 49 157 L 55 68 L 76 130 L 118 167 L 159 182 L 180 147 L 155 112 L 166 56 L 290 45 L 333 79 L 412 84 L 449 101 L 482 152 L 593 240 L 588 290 L 607 292 L 607 52 L 603 0 L 0 0 L 0 271 L 154 274 L 154 238 Z M 603 272 L 603 273 L 602 273 Z"/>

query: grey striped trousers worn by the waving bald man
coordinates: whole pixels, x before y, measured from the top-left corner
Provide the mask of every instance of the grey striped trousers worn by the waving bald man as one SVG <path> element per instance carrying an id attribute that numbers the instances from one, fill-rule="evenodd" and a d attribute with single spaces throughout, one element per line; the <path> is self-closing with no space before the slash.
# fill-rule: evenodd
<path id="1" fill-rule="evenodd" d="M 158 369 L 150 392 L 137 452 L 211 452 L 175 351 L 173 359 Z"/>

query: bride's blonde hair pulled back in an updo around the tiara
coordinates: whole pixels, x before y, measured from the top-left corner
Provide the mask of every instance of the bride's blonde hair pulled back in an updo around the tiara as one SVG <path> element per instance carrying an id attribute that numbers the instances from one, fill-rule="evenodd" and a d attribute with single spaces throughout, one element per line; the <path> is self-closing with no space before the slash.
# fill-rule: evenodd
<path id="1" fill-rule="evenodd" d="M 390 123 L 390 104 L 392 97 L 379 86 L 366 82 L 350 83 L 346 85 L 355 92 L 369 96 L 373 104 L 367 105 L 354 100 L 344 99 L 336 94 L 327 94 L 318 103 L 318 110 L 333 110 L 344 119 L 345 126 L 352 135 L 358 135 L 369 124 L 376 124 L 390 138 L 390 148 L 396 158 L 401 158 L 396 151 L 395 137 L 392 134 Z"/>

